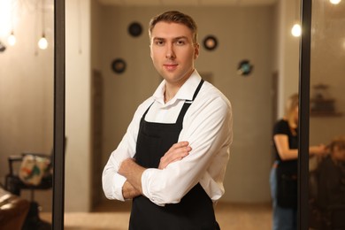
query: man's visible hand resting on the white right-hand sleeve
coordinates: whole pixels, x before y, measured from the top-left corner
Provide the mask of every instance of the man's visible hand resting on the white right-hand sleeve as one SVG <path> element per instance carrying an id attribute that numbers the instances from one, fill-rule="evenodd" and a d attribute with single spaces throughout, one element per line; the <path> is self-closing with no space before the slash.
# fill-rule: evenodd
<path id="1" fill-rule="evenodd" d="M 183 157 L 188 156 L 192 148 L 189 146 L 189 142 L 178 142 L 165 153 L 165 156 L 160 158 L 158 169 L 164 169 L 170 163 L 178 161 Z"/>

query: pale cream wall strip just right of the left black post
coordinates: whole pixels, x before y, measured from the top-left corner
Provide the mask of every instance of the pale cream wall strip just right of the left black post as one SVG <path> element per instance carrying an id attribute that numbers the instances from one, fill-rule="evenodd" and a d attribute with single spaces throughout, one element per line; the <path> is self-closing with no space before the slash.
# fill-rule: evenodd
<path id="1" fill-rule="evenodd" d="M 90 1 L 65 4 L 65 211 L 90 211 Z"/>

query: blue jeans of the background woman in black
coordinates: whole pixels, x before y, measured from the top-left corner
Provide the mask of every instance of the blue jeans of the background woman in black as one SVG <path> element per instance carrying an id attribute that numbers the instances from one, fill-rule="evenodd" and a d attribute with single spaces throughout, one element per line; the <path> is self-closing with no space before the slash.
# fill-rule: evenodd
<path id="1" fill-rule="evenodd" d="M 277 204 L 277 169 L 272 167 L 270 174 L 272 196 L 272 230 L 297 230 L 297 210 L 281 208 Z"/>

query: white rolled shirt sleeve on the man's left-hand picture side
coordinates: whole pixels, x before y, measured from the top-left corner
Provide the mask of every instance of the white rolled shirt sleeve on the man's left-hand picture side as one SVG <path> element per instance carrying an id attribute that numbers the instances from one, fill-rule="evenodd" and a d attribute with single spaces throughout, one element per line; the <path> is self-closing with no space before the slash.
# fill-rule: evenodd
<path id="1" fill-rule="evenodd" d="M 145 101 L 138 107 L 137 111 L 135 111 L 134 118 L 127 128 L 126 134 L 121 142 L 119 142 L 118 148 L 111 152 L 111 156 L 103 168 L 102 186 L 104 195 L 108 199 L 124 201 L 122 187 L 126 178 L 118 173 L 119 166 L 126 158 L 134 157 L 140 120 L 142 119 L 143 112 L 149 106 L 149 103 L 152 103 L 152 101 Z"/>

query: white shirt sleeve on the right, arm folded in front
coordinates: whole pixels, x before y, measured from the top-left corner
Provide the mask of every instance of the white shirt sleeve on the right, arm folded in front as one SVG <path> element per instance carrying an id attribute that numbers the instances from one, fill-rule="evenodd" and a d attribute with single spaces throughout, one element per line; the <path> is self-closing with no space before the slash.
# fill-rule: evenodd
<path id="1" fill-rule="evenodd" d="M 222 96 L 195 103 L 186 113 L 179 138 L 179 142 L 188 141 L 192 151 L 164 170 L 147 169 L 142 174 L 142 192 L 157 205 L 179 203 L 205 177 L 212 179 L 208 180 L 209 185 L 203 185 L 210 191 L 222 186 L 233 138 L 231 105 Z M 211 188 L 212 183 L 216 187 Z M 224 189 L 216 189 L 220 197 Z"/>

